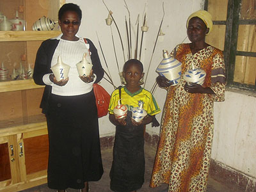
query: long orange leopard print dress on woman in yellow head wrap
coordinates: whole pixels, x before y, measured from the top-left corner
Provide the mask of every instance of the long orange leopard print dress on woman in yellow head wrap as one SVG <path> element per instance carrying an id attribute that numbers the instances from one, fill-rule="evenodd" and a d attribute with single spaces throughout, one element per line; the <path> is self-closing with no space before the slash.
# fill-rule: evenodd
<path id="1" fill-rule="evenodd" d="M 169 184 L 168 192 L 206 191 L 213 136 L 213 102 L 223 101 L 225 68 L 223 53 L 208 46 L 195 54 L 189 44 L 180 44 L 173 55 L 182 63 L 182 74 L 202 68 L 206 72 L 204 87 L 214 95 L 188 93 L 185 81 L 170 86 L 161 120 L 161 134 L 150 187 Z"/>

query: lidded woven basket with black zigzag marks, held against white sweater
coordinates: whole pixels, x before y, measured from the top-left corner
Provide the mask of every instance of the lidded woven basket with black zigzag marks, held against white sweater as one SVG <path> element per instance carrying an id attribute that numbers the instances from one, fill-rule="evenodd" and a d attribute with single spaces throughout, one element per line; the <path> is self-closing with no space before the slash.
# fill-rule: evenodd
<path id="1" fill-rule="evenodd" d="M 67 79 L 70 66 L 61 61 L 61 57 L 58 56 L 57 63 L 51 67 L 51 70 L 56 77 L 57 81 Z"/>

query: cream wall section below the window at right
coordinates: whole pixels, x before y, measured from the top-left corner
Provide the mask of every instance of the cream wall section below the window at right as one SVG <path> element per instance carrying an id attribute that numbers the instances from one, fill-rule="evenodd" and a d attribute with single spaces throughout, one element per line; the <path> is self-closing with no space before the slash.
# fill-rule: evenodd
<path id="1" fill-rule="evenodd" d="M 225 93 L 214 103 L 212 159 L 254 177 L 256 182 L 256 97 Z"/>

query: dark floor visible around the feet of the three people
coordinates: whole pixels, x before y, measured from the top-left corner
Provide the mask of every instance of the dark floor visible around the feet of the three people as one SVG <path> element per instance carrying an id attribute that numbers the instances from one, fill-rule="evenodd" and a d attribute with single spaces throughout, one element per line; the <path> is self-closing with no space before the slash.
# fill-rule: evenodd
<path id="1" fill-rule="evenodd" d="M 168 186 L 163 184 L 163 186 L 159 188 L 149 188 L 149 180 L 152 172 L 152 167 L 154 163 L 154 157 L 156 154 L 156 148 L 150 147 L 145 144 L 145 158 L 146 158 L 146 168 L 145 168 L 145 183 L 143 187 L 137 192 L 165 192 Z M 111 168 L 112 162 L 112 149 L 105 149 L 102 150 L 102 161 L 104 166 L 104 174 L 102 179 L 98 182 L 90 182 L 90 192 L 110 192 L 109 189 L 109 171 Z M 52 190 L 47 188 L 47 185 L 44 184 L 42 186 L 37 186 L 35 188 L 26 189 L 22 192 L 42 192 L 42 191 L 49 191 L 49 192 L 56 192 L 56 190 Z M 78 192 L 77 189 L 67 189 L 67 192 Z M 207 185 L 207 192 L 243 192 L 241 189 L 237 189 L 235 186 L 223 186 L 216 180 L 209 178 L 208 185 Z"/>

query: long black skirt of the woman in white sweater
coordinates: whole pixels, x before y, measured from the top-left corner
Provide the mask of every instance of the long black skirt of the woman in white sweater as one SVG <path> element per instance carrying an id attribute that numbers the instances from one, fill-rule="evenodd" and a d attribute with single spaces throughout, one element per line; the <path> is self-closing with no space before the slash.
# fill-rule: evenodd
<path id="1" fill-rule="evenodd" d="M 46 117 L 49 188 L 82 189 L 84 182 L 99 180 L 103 168 L 93 91 L 65 97 L 51 94 Z"/>

